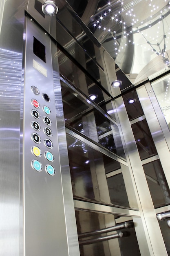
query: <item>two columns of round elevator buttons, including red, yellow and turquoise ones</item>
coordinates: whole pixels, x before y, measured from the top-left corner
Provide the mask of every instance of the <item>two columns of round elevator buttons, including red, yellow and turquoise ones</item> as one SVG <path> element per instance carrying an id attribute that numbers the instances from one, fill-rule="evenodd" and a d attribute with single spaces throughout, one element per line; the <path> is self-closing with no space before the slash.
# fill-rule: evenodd
<path id="1" fill-rule="evenodd" d="M 39 94 L 41 94 L 41 92 L 37 87 L 31 86 L 31 91 L 36 95 L 36 97 L 40 97 Z M 43 103 L 41 102 L 42 101 L 41 99 L 46 101 L 46 105 L 43 105 Z M 33 170 L 37 172 L 40 172 L 44 169 L 44 171 L 47 174 L 53 176 L 55 174 L 55 168 L 54 166 L 48 163 L 54 162 L 55 157 L 53 153 L 48 150 L 44 150 L 44 153 L 43 153 L 44 146 L 46 149 L 49 148 L 53 150 L 53 142 L 51 139 L 48 139 L 48 137 L 52 138 L 53 136 L 53 133 L 51 130 L 52 121 L 48 117 L 49 115 L 51 115 L 51 108 L 48 106 L 48 103 L 47 103 L 47 102 L 50 102 L 50 97 L 48 94 L 43 92 L 41 99 L 40 98 L 31 99 L 31 104 L 34 107 L 33 109 L 31 109 L 31 116 L 34 119 L 34 120 L 32 119 L 31 121 L 31 128 L 36 131 L 31 133 L 31 139 L 35 143 L 35 145 L 32 145 L 31 147 L 31 153 L 34 157 L 37 157 L 37 159 L 36 158 L 32 159 L 31 167 L 33 168 Z M 40 103 L 42 103 L 42 107 L 40 106 Z M 43 115 L 43 113 L 45 115 Z M 42 118 L 41 118 L 41 115 L 42 115 Z M 47 126 L 51 126 L 51 128 L 46 127 L 43 124 L 46 124 Z M 42 126 L 42 129 L 41 129 L 41 126 Z M 41 130 L 43 130 L 44 136 L 47 136 L 47 137 L 43 138 L 43 134 Z M 42 141 L 44 141 L 44 144 L 42 143 Z M 39 144 L 40 146 L 36 146 L 36 144 Z"/>

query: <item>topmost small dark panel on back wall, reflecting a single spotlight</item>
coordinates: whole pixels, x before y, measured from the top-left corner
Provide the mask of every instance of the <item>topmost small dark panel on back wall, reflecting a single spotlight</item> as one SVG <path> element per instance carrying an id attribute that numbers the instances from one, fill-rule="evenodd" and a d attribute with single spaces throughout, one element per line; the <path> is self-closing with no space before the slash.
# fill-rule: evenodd
<path id="1" fill-rule="evenodd" d="M 141 107 L 141 103 L 139 101 L 139 98 L 137 96 L 137 92 L 135 89 L 128 91 L 122 97 L 123 97 L 126 111 L 128 113 L 128 117 L 130 121 L 144 115 L 144 112 Z"/>

